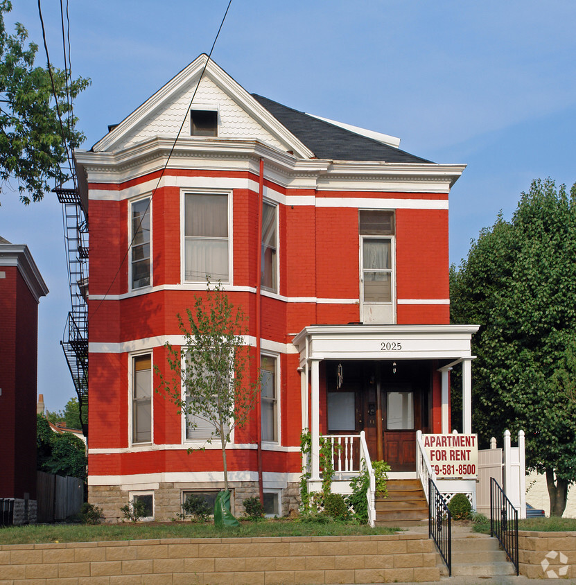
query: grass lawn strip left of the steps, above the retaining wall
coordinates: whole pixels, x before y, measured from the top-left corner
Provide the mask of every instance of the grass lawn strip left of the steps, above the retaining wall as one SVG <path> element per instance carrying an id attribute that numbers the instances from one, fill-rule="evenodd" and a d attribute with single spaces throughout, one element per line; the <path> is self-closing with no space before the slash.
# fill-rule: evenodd
<path id="1" fill-rule="evenodd" d="M 394 534 L 394 528 L 299 521 L 241 522 L 216 530 L 213 523 L 35 524 L 0 528 L 0 544 L 129 541 L 138 539 L 205 539 L 259 536 L 343 536 Z"/>

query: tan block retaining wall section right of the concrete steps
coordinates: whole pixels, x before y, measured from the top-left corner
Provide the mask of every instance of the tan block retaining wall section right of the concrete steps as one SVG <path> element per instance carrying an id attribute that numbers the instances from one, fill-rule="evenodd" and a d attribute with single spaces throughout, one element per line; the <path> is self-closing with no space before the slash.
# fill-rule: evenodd
<path id="1" fill-rule="evenodd" d="M 518 561 L 530 579 L 576 579 L 576 532 L 520 530 Z"/>

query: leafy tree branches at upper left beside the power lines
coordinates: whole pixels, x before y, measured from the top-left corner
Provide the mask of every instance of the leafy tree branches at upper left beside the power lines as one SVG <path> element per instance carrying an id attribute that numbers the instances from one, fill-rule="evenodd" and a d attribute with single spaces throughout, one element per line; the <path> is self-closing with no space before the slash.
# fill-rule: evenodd
<path id="1" fill-rule="evenodd" d="M 35 67 L 38 46 L 26 46 L 26 28 L 17 23 L 15 34 L 6 32 L 4 15 L 11 9 L 10 0 L 0 1 L 0 179 L 14 177 L 21 201 L 28 204 L 50 191 L 51 180 L 69 179 L 62 170 L 65 144 L 73 149 L 84 140 L 75 130 L 71 102 L 89 80 L 74 80 L 68 70 Z M 51 105 L 54 93 L 58 104 Z"/>

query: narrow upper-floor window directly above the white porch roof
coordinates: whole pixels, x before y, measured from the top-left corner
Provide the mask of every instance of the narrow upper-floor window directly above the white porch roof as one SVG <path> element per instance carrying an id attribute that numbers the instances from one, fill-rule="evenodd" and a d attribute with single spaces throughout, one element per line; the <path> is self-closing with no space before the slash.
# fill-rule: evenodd
<path id="1" fill-rule="evenodd" d="M 394 213 L 361 209 L 359 227 L 363 322 L 394 323 Z"/>

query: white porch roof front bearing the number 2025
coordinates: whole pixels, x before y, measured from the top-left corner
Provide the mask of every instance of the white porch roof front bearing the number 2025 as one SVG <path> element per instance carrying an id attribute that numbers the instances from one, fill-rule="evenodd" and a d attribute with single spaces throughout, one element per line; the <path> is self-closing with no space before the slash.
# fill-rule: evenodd
<path id="1" fill-rule="evenodd" d="M 471 359 L 479 325 L 311 325 L 293 340 L 306 360 Z"/>

